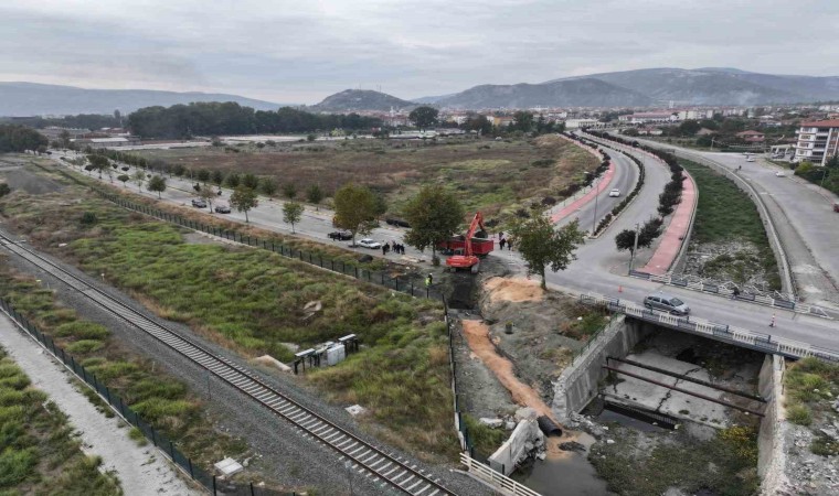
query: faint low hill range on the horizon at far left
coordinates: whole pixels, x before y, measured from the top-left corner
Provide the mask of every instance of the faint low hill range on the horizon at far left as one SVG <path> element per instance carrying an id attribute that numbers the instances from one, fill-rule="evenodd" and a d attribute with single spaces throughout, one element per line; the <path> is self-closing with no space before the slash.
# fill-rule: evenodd
<path id="1" fill-rule="evenodd" d="M 276 110 L 279 104 L 236 95 L 177 93 L 151 89 L 85 89 L 36 83 L 0 83 L 0 116 L 129 114 L 138 108 L 169 107 L 192 101 L 235 101 L 257 110 Z"/>

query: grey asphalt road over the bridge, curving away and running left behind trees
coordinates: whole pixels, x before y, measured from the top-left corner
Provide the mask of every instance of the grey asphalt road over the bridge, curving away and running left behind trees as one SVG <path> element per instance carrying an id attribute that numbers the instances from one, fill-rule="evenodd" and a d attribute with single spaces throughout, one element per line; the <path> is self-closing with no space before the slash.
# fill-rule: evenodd
<path id="1" fill-rule="evenodd" d="M 614 151 L 609 151 L 609 154 L 616 163 L 617 175 L 613 181 L 623 181 L 619 180 L 619 175 L 627 174 L 630 176 L 633 174 L 631 171 L 635 170 L 635 165 L 629 159 Z M 768 333 L 788 339 L 801 341 L 814 346 L 839 349 L 839 323 L 837 321 L 771 309 L 743 301 L 732 301 L 720 295 L 666 287 L 660 283 L 628 277 L 629 254 L 625 251 L 618 252 L 615 249 L 614 237 L 620 230 L 631 229 L 636 223 L 642 223 L 651 215 L 655 215 L 658 195 L 670 177 L 670 171 L 660 161 L 646 155 L 640 155 L 639 159 L 645 163 L 646 169 L 646 181 L 641 193 L 598 238 L 588 239 L 584 246 L 580 247 L 577 259 L 566 270 L 557 273 L 548 273 L 546 279 L 550 288 L 574 294 L 594 292 L 610 298 L 627 299 L 635 303 L 640 302 L 647 294 L 662 291 L 676 294 L 684 300 L 691 306 L 692 314 L 698 317 L 720 324 L 740 326 L 758 333 Z M 68 168 L 66 164 L 63 165 Z M 105 177 L 103 181 L 108 182 L 108 179 Z M 190 200 L 193 197 L 191 184 L 188 181 L 178 179 L 168 179 L 167 181 L 170 187 L 163 192 L 163 201 L 177 205 L 189 205 Z M 615 184 L 618 183 L 616 182 Z M 132 192 L 137 192 L 136 185 L 129 187 Z M 225 191 L 222 201 L 227 198 L 229 193 L 229 191 Z M 153 198 L 157 197 L 157 194 L 146 191 L 142 194 Z M 604 200 L 604 197 L 607 198 L 607 194 L 608 192 L 604 191 L 598 202 L 599 200 Z M 608 200 L 604 200 L 604 202 L 608 202 Z M 290 226 L 282 222 L 282 205 L 283 202 L 279 201 L 262 202 L 257 208 L 249 213 L 251 224 L 268 230 L 290 234 Z M 604 205 L 607 205 L 607 203 L 604 203 Z M 592 209 L 592 214 L 588 214 L 591 222 L 594 208 L 593 204 L 581 208 L 578 214 L 581 219 L 586 218 L 588 208 Z M 605 212 L 604 209 L 601 213 L 598 205 L 598 217 L 605 215 Z M 235 212 L 224 217 L 244 223 L 244 215 Z M 331 213 L 323 209 L 315 212 L 307 207 L 304 219 L 296 226 L 296 229 L 297 236 L 304 238 L 317 239 L 321 242 L 343 247 L 348 246 L 346 241 L 331 241 L 326 237 L 333 228 L 331 227 Z M 371 237 L 381 240 L 401 240 L 403 234 L 403 229 L 389 226 L 375 229 Z M 370 252 L 370 250 L 364 248 L 355 248 L 354 250 Z M 426 262 L 429 258 L 428 254 L 420 254 L 411 247 L 406 247 L 406 251 L 408 257 L 424 258 Z M 646 250 L 645 252 L 639 252 L 639 258 L 644 258 L 645 256 L 649 258 L 650 255 L 651 250 Z M 524 263 L 518 251 L 496 251 L 490 256 L 500 257 L 512 270 L 523 273 Z M 391 254 L 389 258 L 397 259 L 399 257 Z M 635 266 L 639 267 L 646 260 L 636 260 Z M 772 321 L 773 314 L 776 315 L 776 326 L 769 327 L 768 324 Z"/>

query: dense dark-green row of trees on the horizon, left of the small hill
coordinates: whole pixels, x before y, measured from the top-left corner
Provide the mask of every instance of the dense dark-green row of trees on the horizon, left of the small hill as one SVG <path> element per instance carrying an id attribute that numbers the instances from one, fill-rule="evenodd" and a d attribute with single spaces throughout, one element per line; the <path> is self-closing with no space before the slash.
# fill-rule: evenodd
<path id="1" fill-rule="evenodd" d="M 144 138 L 188 139 L 193 136 L 299 133 L 332 129 L 380 127 L 380 119 L 350 115 L 320 115 L 283 107 L 254 110 L 233 101 L 146 107 L 128 116 L 131 131 Z"/>

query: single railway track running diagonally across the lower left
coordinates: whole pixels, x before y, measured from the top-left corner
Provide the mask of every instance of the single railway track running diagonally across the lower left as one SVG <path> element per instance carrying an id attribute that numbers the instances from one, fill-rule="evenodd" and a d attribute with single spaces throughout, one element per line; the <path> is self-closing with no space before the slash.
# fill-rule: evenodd
<path id="1" fill-rule="evenodd" d="M 178 332 L 146 317 L 130 306 L 64 270 L 59 265 L 24 248 L 21 242 L 0 234 L 0 245 L 30 263 L 50 272 L 68 287 L 96 302 L 104 310 L 153 336 L 159 342 L 247 396 L 251 400 L 256 401 L 306 434 L 331 448 L 341 457 L 350 461 L 353 470 L 367 472 L 368 475 L 374 477 L 373 482 L 383 481 L 380 483 L 383 487 L 385 484 L 390 484 L 403 493 L 414 496 L 455 495 L 455 493 L 446 489 L 439 479 L 426 474 L 422 468 L 417 468 L 400 456 L 387 453 L 361 440 L 266 385 L 248 370 L 230 359 L 219 356 L 181 336 Z"/>

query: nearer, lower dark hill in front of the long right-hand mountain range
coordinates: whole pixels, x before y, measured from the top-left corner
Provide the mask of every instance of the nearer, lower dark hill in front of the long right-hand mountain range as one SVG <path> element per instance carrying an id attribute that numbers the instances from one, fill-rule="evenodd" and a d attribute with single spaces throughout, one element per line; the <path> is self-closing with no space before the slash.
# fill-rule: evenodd
<path id="1" fill-rule="evenodd" d="M 450 108 L 528 108 L 647 106 L 651 99 L 640 93 L 594 78 L 557 80 L 541 85 L 482 85 L 444 97 L 436 105 Z"/>

